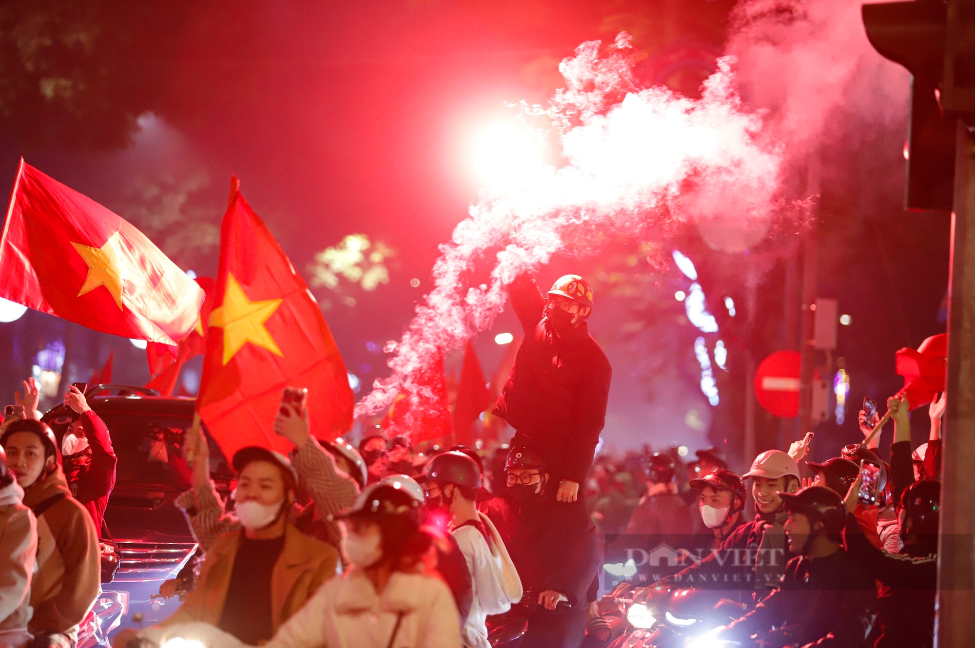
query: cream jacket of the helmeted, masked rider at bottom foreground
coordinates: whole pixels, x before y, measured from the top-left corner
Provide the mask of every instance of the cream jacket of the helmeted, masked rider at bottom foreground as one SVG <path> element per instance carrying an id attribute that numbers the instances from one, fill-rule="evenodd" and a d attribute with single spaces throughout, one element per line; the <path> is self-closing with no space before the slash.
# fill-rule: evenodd
<path id="1" fill-rule="evenodd" d="M 394 572 L 381 595 L 352 567 L 319 590 L 263 648 L 459 648 L 460 617 L 437 576 Z"/>

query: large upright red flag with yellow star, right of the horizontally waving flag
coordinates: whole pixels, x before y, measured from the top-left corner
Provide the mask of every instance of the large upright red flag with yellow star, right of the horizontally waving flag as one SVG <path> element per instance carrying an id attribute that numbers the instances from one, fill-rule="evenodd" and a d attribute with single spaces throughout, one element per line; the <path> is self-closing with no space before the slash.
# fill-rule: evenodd
<path id="1" fill-rule="evenodd" d="M 291 449 L 271 429 L 286 387 L 308 389 L 316 438 L 348 432 L 354 399 L 329 325 L 236 177 L 208 321 L 197 411 L 227 459 L 247 445 Z"/>

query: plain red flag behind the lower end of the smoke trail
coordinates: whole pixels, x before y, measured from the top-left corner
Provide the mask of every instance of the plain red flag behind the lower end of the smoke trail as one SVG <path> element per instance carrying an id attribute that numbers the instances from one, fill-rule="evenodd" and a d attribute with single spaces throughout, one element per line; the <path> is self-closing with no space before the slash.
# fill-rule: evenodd
<path id="1" fill-rule="evenodd" d="M 383 419 L 382 427 L 388 436 L 407 435 L 416 444 L 453 434 L 442 354 L 428 370 L 414 371 L 405 388 Z"/>

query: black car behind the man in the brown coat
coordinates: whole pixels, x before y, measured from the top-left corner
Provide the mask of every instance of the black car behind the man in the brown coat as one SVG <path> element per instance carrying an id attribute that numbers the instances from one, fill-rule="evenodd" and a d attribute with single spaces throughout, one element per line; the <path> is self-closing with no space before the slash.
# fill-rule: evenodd
<path id="1" fill-rule="evenodd" d="M 161 397 L 155 390 L 115 384 L 90 386 L 85 396 L 108 427 L 118 457 L 105 525 L 122 560 L 114 580 L 102 589 L 119 593 L 124 610 L 121 627 L 131 626 L 136 613 L 143 615 L 145 623 L 161 621 L 176 610 L 178 601 L 153 594 L 158 594 L 164 581 L 175 578 L 197 550 L 186 517 L 174 504 L 192 485 L 183 439 L 193 423 L 196 400 Z M 44 415 L 59 443 L 70 415 L 64 404 Z M 204 432 L 210 444 L 211 476 L 226 498 L 234 476 L 206 428 Z"/>

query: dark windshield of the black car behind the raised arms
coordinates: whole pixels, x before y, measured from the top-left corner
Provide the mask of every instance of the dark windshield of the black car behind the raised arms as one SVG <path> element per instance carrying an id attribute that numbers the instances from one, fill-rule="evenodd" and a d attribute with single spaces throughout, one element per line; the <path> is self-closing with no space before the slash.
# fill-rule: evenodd
<path id="1" fill-rule="evenodd" d="M 186 417 L 102 416 L 112 438 L 112 447 L 119 458 L 116 483 L 159 484 L 188 488 L 192 485 L 192 471 L 183 453 L 183 438 L 192 424 Z M 213 438 L 210 443 L 210 473 L 217 481 L 233 478 Z"/>

